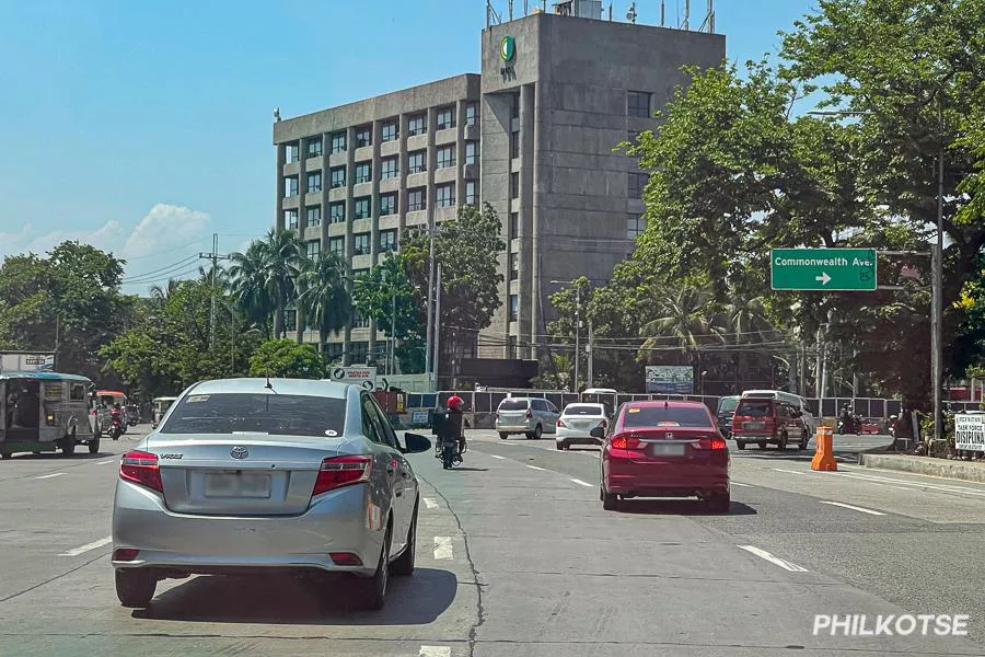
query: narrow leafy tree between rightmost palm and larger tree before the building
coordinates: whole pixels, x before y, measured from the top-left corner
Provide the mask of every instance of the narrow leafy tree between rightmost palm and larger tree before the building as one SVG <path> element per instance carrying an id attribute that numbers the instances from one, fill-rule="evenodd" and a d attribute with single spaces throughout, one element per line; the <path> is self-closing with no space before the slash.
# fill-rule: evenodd
<path id="1" fill-rule="evenodd" d="M 376 326 L 401 343 L 394 349 L 401 371 L 424 371 L 426 334 L 419 309 L 427 301 L 412 286 L 403 254 L 390 254 L 357 278 L 352 302 L 363 316 L 374 319 Z"/>

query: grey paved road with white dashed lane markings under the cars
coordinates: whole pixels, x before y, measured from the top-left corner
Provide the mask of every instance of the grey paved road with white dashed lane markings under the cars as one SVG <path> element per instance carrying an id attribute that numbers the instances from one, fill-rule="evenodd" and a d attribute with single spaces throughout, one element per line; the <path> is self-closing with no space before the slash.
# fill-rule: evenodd
<path id="1" fill-rule="evenodd" d="M 225 577 L 163 583 L 127 610 L 109 516 L 136 439 L 0 462 L 0 656 L 985 654 L 985 486 L 732 449 L 729 515 L 690 500 L 605 512 L 598 450 L 491 431 L 471 433 L 453 471 L 413 457 L 418 569 L 382 612 Z M 815 614 L 906 612 L 969 614 L 969 637 L 812 632 Z"/>

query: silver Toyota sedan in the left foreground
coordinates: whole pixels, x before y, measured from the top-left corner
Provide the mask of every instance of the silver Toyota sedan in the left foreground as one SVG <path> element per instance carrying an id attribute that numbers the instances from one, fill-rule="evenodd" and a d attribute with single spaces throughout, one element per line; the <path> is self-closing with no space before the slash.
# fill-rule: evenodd
<path id="1" fill-rule="evenodd" d="M 195 574 L 348 573 L 381 609 L 414 570 L 418 483 L 373 396 L 356 385 L 230 379 L 182 393 L 124 454 L 113 506 L 116 592 L 147 607 Z"/>

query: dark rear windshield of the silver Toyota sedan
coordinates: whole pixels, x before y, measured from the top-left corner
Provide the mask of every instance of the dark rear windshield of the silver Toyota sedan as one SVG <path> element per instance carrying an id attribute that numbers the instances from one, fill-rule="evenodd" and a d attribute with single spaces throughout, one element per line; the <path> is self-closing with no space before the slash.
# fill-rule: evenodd
<path id="1" fill-rule="evenodd" d="M 162 434 L 341 436 L 346 402 L 275 393 L 190 394 L 174 408 Z"/>

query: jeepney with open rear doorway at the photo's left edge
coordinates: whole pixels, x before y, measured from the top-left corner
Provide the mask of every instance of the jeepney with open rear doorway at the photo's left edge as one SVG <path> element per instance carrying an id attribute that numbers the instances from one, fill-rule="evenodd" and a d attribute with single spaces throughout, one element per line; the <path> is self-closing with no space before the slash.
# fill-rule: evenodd
<path id="1" fill-rule="evenodd" d="M 14 452 L 61 450 L 77 445 L 100 451 L 92 381 L 59 372 L 0 373 L 0 458 Z"/>

